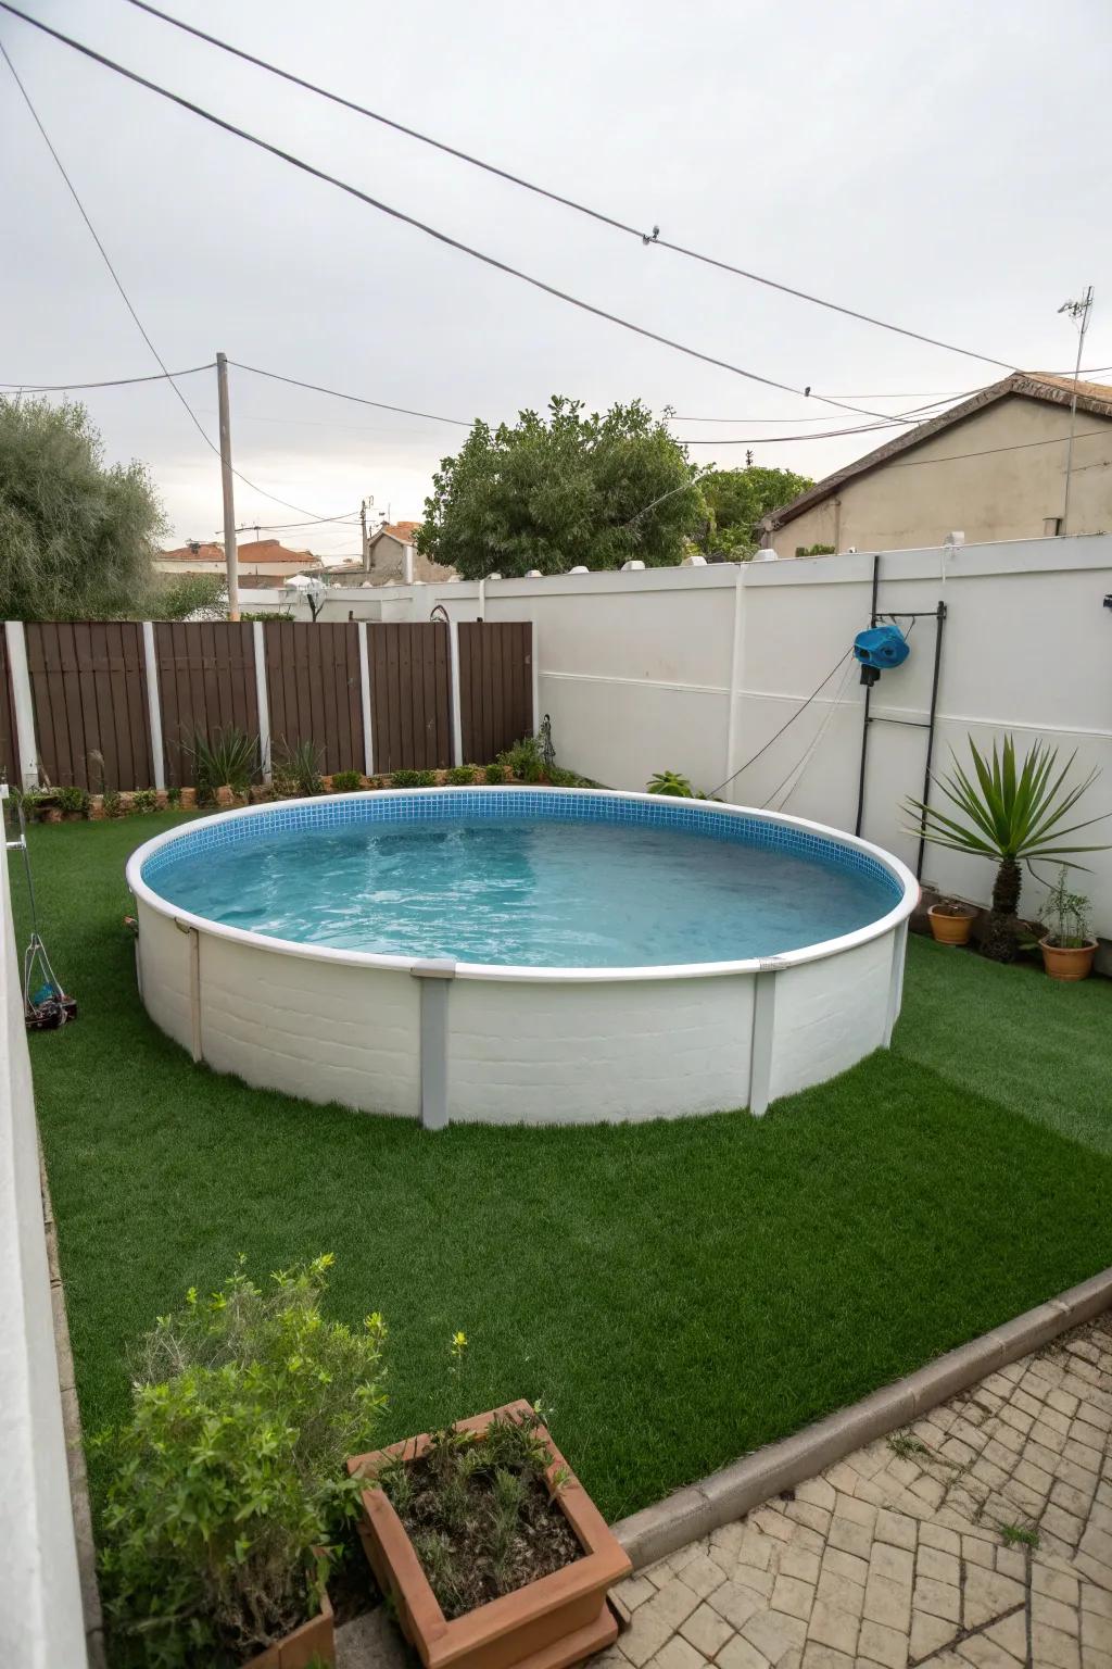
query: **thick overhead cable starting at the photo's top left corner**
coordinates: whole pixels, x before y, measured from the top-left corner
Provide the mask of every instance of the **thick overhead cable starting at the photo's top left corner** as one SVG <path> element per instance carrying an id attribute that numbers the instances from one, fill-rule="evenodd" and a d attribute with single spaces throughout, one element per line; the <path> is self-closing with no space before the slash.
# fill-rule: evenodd
<path id="1" fill-rule="evenodd" d="M 348 197 L 355 197 L 358 202 L 367 204 L 368 209 L 378 210 L 378 214 L 388 215 L 392 220 L 398 220 L 402 225 L 410 225 L 417 232 L 423 232 L 425 237 L 432 237 L 437 244 L 443 244 L 447 249 L 455 249 L 463 255 L 470 255 L 472 260 L 480 260 L 483 265 L 492 267 L 495 272 L 505 272 L 507 277 L 518 279 L 522 284 L 528 284 L 532 289 L 540 290 L 545 295 L 553 295 L 557 300 L 567 302 L 570 307 L 579 307 L 580 312 L 587 312 L 595 319 L 605 319 L 609 324 L 619 325 L 622 330 L 630 330 L 634 335 L 640 335 L 649 342 L 659 342 L 662 347 L 670 347 L 677 354 L 685 354 L 689 359 L 699 359 L 702 364 L 717 366 L 720 371 L 729 371 L 735 377 L 745 377 L 749 382 L 759 382 L 767 389 L 780 389 L 784 394 L 799 394 L 807 397 L 809 389 L 797 389 L 789 382 L 777 382 L 774 377 L 762 377 L 755 371 L 745 371 L 742 366 L 734 366 L 727 359 L 719 359 L 715 354 L 704 354 L 702 349 L 689 347 L 685 342 L 677 342 L 674 337 L 667 337 L 659 330 L 650 330 L 647 325 L 634 324 L 630 319 L 622 319 L 619 314 L 609 312 L 605 307 L 595 307 L 594 302 L 585 302 L 579 295 L 572 295 L 567 290 L 559 289 L 555 284 L 548 284 L 545 279 L 533 277 L 528 272 L 522 272 L 520 267 L 512 267 L 505 260 L 498 260 L 495 255 L 487 255 L 480 249 L 473 249 L 470 244 L 460 242 L 460 239 L 450 237 L 447 232 L 440 232 L 415 215 L 405 214 L 402 209 L 393 209 L 390 204 L 372 197 L 368 192 L 362 192 L 357 185 L 350 185 L 347 180 L 337 179 L 335 174 L 328 174 L 325 169 L 313 167 L 312 162 L 305 162 L 302 157 L 295 157 L 288 150 L 282 150 L 280 145 L 272 145 L 270 140 L 260 139 L 257 134 L 248 134 L 247 129 L 237 127 L 233 122 L 215 115 L 212 110 L 205 110 L 203 105 L 193 103 L 192 98 L 183 98 L 180 93 L 170 92 L 167 87 L 158 85 L 158 82 L 148 80 L 137 70 L 128 70 L 125 65 L 117 63 L 113 58 L 105 57 L 102 52 L 95 52 L 92 47 L 83 45 L 80 40 L 73 40 L 72 35 L 63 35 L 62 30 L 52 28 L 48 23 L 40 22 L 40 18 L 30 17 L 18 7 L 12 5 L 10 0 L 0 0 L 0 8 L 10 12 L 12 17 L 18 17 L 23 23 L 30 23 L 32 28 L 40 30 L 43 35 L 50 35 L 53 40 L 60 40 L 65 47 L 73 52 L 80 52 L 82 57 L 92 58 L 95 63 L 113 70 L 117 75 L 123 75 L 125 80 L 133 82 L 137 87 L 145 87 L 148 92 L 157 93 L 160 98 L 168 98 L 170 103 L 178 105 L 182 110 L 188 110 L 192 115 L 198 115 L 203 122 L 210 122 L 213 127 L 222 129 L 225 134 L 233 134 L 237 139 L 245 140 L 248 145 L 255 145 L 258 150 L 268 152 L 272 157 L 278 157 L 280 162 L 287 162 L 290 167 L 298 169 L 302 174 L 308 174 L 312 179 L 323 180 L 325 185 L 333 185 L 340 192 L 347 192 Z M 1009 367 L 1010 369 L 1010 367 Z M 859 417 L 882 417 L 884 412 L 872 412 L 865 407 L 849 406 L 844 401 L 830 399 L 825 394 L 810 394 L 812 399 L 822 401 L 825 406 L 837 406 L 842 411 L 855 412 Z"/>

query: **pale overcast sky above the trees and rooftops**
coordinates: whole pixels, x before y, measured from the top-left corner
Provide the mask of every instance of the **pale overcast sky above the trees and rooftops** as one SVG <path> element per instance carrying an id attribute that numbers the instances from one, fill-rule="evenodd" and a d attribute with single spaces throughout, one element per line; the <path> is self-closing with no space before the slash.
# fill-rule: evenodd
<path id="1" fill-rule="evenodd" d="M 1112 367 L 1107 0 L 162 0 L 283 68 L 634 227 L 999 359 L 1072 369 L 1062 302 L 1094 285 Z M 822 476 L 890 437 L 810 439 L 1005 376 L 714 270 L 338 110 L 127 0 L 23 10 L 240 127 L 662 335 L 645 340 L 447 249 L 0 12 L 3 42 L 130 300 L 173 371 L 233 366 L 240 526 L 357 554 L 418 519 L 470 422 L 552 394 L 670 407 L 700 464 Z M 142 377 L 128 315 L 0 60 L 0 382 Z M 1104 376 L 1104 372 L 1100 372 Z M 1107 381 L 1112 381 L 1112 371 Z M 180 381 L 217 436 L 215 371 Z M 52 396 L 58 397 L 58 396 Z M 222 527 L 220 471 L 167 382 L 80 394 L 107 457 L 143 459 L 170 544 Z M 804 421 L 800 421 L 804 419 Z M 769 444 L 769 436 L 807 439 Z M 740 444 L 727 444 L 730 439 Z M 343 517 L 293 527 L 310 517 Z M 283 529 L 283 531 L 277 531 Z M 250 534 L 253 537 L 253 531 Z"/>

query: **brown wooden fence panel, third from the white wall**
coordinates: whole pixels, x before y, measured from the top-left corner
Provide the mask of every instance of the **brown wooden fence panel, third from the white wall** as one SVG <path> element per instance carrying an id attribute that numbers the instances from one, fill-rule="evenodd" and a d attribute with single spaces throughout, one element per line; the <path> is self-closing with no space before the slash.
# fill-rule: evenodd
<path id="1" fill-rule="evenodd" d="M 267 621 L 267 696 L 273 758 L 302 741 L 322 769 L 363 769 L 363 698 L 353 621 Z"/>

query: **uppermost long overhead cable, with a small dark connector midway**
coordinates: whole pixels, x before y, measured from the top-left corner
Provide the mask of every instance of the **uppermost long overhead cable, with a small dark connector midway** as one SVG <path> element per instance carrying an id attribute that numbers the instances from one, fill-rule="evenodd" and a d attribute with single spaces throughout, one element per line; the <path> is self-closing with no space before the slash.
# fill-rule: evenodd
<path id="1" fill-rule="evenodd" d="M 382 115 L 378 110 L 370 110 L 367 105 L 355 103 L 352 98 L 343 98 L 340 93 L 333 93 L 327 87 L 318 87 L 315 82 L 305 80 L 302 75 L 293 75 L 290 70 L 283 70 L 277 63 L 270 63 L 267 58 L 245 52 L 242 47 L 233 47 L 232 42 L 222 40 L 218 35 L 210 35 L 203 28 L 197 28 L 193 23 L 185 23 L 182 18 L 158 10 L 158 7 L 150 5 L 148 0 L 130 0 L 130 3 L 140 12 L 148 12 L 152 17 L 162 18 L 163 23 L 173 25 L 173 28 L 195 35 L 210 47 L 218 47 L 220 52 L 228 52 L 233 57 L 242 58 L 245 63 L 253 63 L 257 68 L 267 70 L 270 75 L 278 75 L 283 82 L 290 82 L 293 87 L 302 87 L 305 92 L 317 93 L 320 98 L 327 98 L 330 103 L 340 105 L 343 110 L 352 110 L 357 115 L 368 117 L 372 122 L 380 122 L 383 127 L 390 127 L 397 134 L 405 134 L 407 139 L 415 139 L 422 145 L 432 145 L 433 150 L 442 150 L 445 155 L 455 157 L 458 162 L 467 162 L 473 169 L 493 174 L 497 179 L 507 180 L 510 185 L 520 185 L 523 190 L 533 192 L 537 197 L 545 197 L 548 202 L 560 204 L 564 209 L 574 209 L 575 214 L 584 214 L 589 219 L 597 220 L 600 225 L 609 225 L 615 232 L 637 237 L 644 245 L 669 249 L 675 255 L 685 255 L 689 260 L 699 260 L 707 267 L 717 267 L 720 272 L 732 272 L 735 277 L 747 279 L 750 284 L 762 284 L 767 289 L 780 290 L 784 295 L 794 295 L 797 300 L 810 302 L 814 307 L 825 307 L 830 312 L 844 314 L 847 319 L 859 319 L 862 324 L 877 325 L 880 330 L 894 330 L 897 335 L 910 337 L 915 342 L 927 342 L 930 347 L 942 347 L 950 354 L 964 354 L 965 359 L 979 359 L 987 366 L 1004 366 L 1005 371 L 1015 369 L 1002 359 L 994 359 L 992 354 L 977 354 L 969 347 L 955 347 L 954 342 L 942 342 L 939 337 L 924 335 L 920 330 L 909 330 L 904 325 L 889 324 L 885 319 L 872 317 L 872 314 L 857 312 L 854 307 L 842 307 L 839 302 L 829 302 L 822 295 L 810 295 L 807 290 L 797 290 L 790 284 L 780 284 L 777 279 L 767 279 L 759 272 L 749 272 L 745 267 L 735 267 L 729 260 L 719 260 L 717 257 L 705 255 L 697 249 L 685 249 L 682 244 L 672 244 L 669 239 L 660 237 L 659 227 L 654 227 L 652 232 L 645 232 L 642 227 L 627 225 L 615 215 L 602 214 L 599 209 L 590 209 L 587 204 L 575 202 L 574 197 L 562 197 L 559 192 L 550 192 L 547 187 L 525 180 L 518 174 L 498 169 L 492 162 L 483 162 L 480 157 L 472 157 L 468 152 L 458 150 L 455 145 L 447 145 L 443 140 L 432 139 L 428 134 L 420 134 L 413 127 L 405 127 L 402 122 L 395 122 L 390 117 Z"/>

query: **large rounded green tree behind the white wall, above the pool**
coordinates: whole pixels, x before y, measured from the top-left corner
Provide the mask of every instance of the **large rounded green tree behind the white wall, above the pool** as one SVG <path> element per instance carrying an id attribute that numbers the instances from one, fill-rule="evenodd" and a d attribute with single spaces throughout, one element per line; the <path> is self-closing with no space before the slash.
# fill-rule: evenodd
<path id="1" fill-rule="evenodd" d="M 463 579 L 562 574 L 584 564 L 679 562 L 705 521 L 687 451 L 647 406 L 584 412 L 553 396 L 547 416 L 475 422 L 425 499 L 417 549 Z"/>

